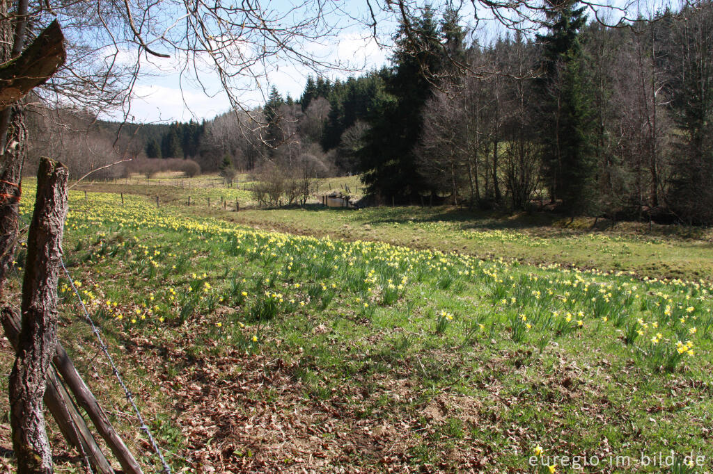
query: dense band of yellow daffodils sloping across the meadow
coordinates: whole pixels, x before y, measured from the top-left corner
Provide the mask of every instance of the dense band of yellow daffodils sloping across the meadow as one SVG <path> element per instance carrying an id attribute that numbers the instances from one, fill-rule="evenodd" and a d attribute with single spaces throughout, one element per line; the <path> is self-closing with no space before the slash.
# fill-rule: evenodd
<path id="1" fill-rule="evenodd" d="M 708 358 L 713 330 L 709 282 L 637 280 L 625 272 L 532 268 L 386 243 L 256 231 L 185 218 L 135 197 L 120 206 L 116 198 L 93 194 L 85 201 L 72 193 L 66 233 L 96 241 L 90 259 L 121 260 L 132 274 L 155 281 L 153 291 L 134 295 L 133 301 L 109 300 L 101 288 L 81 289 L 91 307 L 118 325 L 185 320 L 217 305 L 247 305 L 248 320 L 270 320 L 305 307 L 324 309 L 337 293 L 342 304 L 369 317 L 407 298 L 413 285 L 426 284 L 457 295 L 443 307 L 428 308 L 439 334 L 457 327 L 464 337 L 509 337 L 539 351 L 574 332 L 597 339 L 607 335 L 655 371 L 672 372 L 692 358 Z M 166 231 L 180 233 L 183 242 L 173 248 L 152 242 L 152 234 Z M 115 233 L 128 238 L 111 238 Z M 225 279 L 209 283 L 205 272 L 190 270 L 198 253 L 188 245 L 193 241 L 210 244 L 209 258 L 218 263 L 227 256 L 259 263 L 262 281 L 248 292 L 244 278 L 231 278 L 233 269 L 225 266 L 216 268 Z M 161 284 L 184 273 L 190 278 L 180 288 Z"/>

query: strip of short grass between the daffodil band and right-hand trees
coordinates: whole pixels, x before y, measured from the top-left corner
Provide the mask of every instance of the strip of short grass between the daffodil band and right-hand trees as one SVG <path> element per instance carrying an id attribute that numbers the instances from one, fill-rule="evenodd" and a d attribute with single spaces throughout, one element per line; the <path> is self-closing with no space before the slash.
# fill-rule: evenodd
<path id="1" fill-rule="evenodd" d="M 653 226 L 649 231 L 647 224 L 638 223 L 605 223 L 592 229 L 591 220 L 568 226 L 568 220 L 547 214 L 493 216 L 416 206 L 359 211 L 313 206 L 213 215 L 259 228 L 516 259 L 529 265 L 631 271 L 642 278 L 709 280 L 713 275 L 712 236 L 704 229 Z"/>

